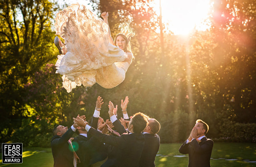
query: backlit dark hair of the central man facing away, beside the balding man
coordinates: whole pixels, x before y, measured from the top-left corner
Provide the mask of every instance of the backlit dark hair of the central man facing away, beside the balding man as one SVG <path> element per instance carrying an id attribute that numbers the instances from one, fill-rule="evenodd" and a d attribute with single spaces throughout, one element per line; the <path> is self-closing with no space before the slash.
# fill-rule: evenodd
<path id="1" fill-rule="evenodd" d="M 145 129 L 145 127 L 148 125 L 148 117 L 141 112 L 137 112 L 132 117 L 131 124 L 133 125 L 134 133 L 141 133 Z"/>

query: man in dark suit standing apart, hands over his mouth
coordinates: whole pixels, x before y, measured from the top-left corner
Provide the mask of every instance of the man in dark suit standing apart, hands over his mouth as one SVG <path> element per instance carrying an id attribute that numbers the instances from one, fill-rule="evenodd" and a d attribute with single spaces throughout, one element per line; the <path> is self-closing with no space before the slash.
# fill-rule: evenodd
<path id="1" fill-rule="evenodd" d="M 179 149 L 181 154 L 188 154 L 188 167 L 210 167 L 213 141 L 207 139 L 205 134 L 209 126 L 201 119 L 196 120 L 190 136 Z"/>

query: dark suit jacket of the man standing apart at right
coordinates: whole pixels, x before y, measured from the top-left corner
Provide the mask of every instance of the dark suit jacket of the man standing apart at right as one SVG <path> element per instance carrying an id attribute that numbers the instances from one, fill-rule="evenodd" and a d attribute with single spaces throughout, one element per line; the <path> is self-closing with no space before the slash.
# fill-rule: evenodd
<path id="1" fill-rule="evenodd" d="M 196 139 L 192 140 L 188 144 L 185 141 L 179 149 L 181 154 L 188 154 L 188 166 L 189 167 L 209 167 L 210 158 L 212 155 L 213 141 L 206 137 L 201 139 L 198 144 Z"/>

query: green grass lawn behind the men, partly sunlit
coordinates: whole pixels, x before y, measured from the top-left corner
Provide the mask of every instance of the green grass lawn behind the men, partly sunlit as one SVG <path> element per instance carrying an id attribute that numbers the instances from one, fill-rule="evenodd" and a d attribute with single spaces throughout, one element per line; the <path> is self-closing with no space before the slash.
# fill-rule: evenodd
<path id="1" fill-rule="evenodd" d="M 178 149 L 181 143 L 161 144 L 158 155 L 156 156 L 157 167 L 186 167 L 188 166 L 188 155 L 181 156 Z M 2 154 L 0 155 L 2 158 Z M 229 160 L 237 159 L 237 160 Z M 247 160 L 247 161 L 244 161 Z M 254 163 L 248 162 L 255 161 Z M 53 158 L 51 148 L 23 148 L 22 164 L 3 164 L 7 167 L 52 167 Z M 211 166 L 213 167 L 236 167 L 256 166 L 256 143 L 214 143 L 212 150 Z"/>

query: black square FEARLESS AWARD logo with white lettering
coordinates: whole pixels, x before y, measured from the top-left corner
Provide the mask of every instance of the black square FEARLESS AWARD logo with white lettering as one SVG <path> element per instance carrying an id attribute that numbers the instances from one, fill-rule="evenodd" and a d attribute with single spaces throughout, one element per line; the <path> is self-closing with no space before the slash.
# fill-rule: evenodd
<path id="1" fill-rule="evenodd" d="M 3 143 L 2 160 L 2 163 L 22 163 L 22 143 Z"/>

